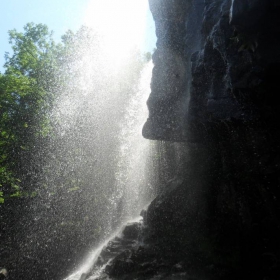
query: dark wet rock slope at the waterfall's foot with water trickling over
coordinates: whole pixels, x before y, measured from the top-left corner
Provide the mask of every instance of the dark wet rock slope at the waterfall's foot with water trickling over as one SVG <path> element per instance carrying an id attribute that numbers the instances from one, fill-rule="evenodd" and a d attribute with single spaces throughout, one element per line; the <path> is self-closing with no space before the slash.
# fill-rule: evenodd
<path id="1" fill-rule="evenodd" d="M 120 236 L 116 236 L 102 249 L 91 271 L 81 275 L 85 279 L 186 279 L 182 263 L 173 259 L 162 259 L 158 246 L 143 245 L 143 225 L 141 222 L 125 226 Z M 169 255 L 170 257 L 170 255 Z M 153 278 L 156 277 L 156 278 Z"/>

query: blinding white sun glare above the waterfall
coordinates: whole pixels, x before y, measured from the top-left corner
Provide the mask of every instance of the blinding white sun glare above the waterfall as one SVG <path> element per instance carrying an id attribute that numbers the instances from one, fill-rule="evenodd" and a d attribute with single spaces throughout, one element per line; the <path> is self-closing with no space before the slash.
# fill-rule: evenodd
<path id="1" fill-rule="evenodd" d="M 104 55 L 120 64 L 132 48 L 141 49 L 147 10 L 147 0 L 91 0 L 85 25 L 99 34 Z"/>

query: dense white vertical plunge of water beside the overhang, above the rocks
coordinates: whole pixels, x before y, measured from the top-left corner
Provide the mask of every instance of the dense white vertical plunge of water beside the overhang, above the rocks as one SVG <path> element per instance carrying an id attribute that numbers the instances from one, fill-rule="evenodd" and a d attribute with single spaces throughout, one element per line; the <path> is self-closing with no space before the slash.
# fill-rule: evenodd
<path id="1" fill-rule="evenodd" d="M 142 71 L 136 94 L 129 101 L 119 134 L 116 189 L 123 208 L 122 222 L 138 216 L 147 203 L 144 194 L 148 184 L 146 166 L 150 142 L 142 137 L 142 127 L 148 117 L 146 100 L 150 93 L 152 67 L 150 62 Z"/>

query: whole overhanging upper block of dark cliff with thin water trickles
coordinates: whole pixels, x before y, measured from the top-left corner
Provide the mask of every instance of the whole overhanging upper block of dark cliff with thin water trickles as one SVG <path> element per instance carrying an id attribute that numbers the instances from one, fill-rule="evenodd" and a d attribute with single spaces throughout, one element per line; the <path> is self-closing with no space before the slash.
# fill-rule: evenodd
<path id="1" fill-rule="evenodd" d="M 272 77 L 280 60 L 277 1 L 154 0 L 150 6 L 158 41 L 144 137 L 192 141 L 194 130 L 201 137 L 197 126 L 213 117 L 251 121 L 275 111 L 269 96 L 272 86 L 279 88 Z"/>

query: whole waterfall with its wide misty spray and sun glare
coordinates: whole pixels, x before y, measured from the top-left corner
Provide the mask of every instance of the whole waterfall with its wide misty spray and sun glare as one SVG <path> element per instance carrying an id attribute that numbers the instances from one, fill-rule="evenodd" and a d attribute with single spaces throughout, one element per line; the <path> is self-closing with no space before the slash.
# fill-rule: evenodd
<path id="1" fill-rule="evenodd" d="M 32 279 L 64 279 L 91 267 L 108 238 L 155 195 L 153 144 L 141 135 L 153 68 L 144 55 L 153 48 L 144 42 L 148 0 L 86 2 L 84 26 L 38 52 L 46 58 L 30 94 L 35 100 L 38 90 L 43 105 L 36 99 L 40 115 L 34 109 L 32 126 L 21 128 L 32 146 L 18 147 L 26 168 L 15 185 L 23 190 L 19 206 L 10 204 L 22 230 L 12 234 L 16 242 L 6 235 L 20 260 L 12 278 L 28 268 Z"/>

